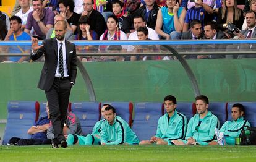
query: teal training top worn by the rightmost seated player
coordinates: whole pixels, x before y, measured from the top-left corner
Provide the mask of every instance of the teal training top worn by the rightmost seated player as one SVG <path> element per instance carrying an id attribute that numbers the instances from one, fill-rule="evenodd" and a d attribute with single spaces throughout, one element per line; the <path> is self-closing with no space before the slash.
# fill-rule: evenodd
<path id="1" fill-rule="evenodd" d="M 236 121 L 233 119 L 231 121 L 226 121 L 220 129 L 220 132 L 223 132 L 225 136 L 239 137 L 241 131 L 244 127 L 250 127 L 250 123 L 247 120 L 244 120 L 244 117 L 238 118 Z"/>

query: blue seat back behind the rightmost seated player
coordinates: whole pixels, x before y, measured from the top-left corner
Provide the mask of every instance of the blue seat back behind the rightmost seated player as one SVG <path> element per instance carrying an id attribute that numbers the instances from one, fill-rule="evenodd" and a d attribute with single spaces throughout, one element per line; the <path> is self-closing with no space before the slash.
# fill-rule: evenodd
<path id="1" fill-rule="evenodd" d="M 245 119 L 250 122 L 251 127 L 256 127 L 256 103 L 254 102 L 236 102 L 244 105 L 245 108 Z M 228 103 L 228 121 L 232 119 L 231 110 L 235 103 Z"/>

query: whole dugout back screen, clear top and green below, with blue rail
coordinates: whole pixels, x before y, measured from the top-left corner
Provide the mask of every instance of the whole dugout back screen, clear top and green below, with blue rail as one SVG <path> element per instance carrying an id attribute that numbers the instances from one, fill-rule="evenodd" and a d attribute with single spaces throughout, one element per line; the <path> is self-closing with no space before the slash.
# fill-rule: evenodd
<path id="1" fill-rule="evenodd" d="M 199 94 L 210 101 L 255 101 L 256 40 L 74 43 L 79 72 L 70 101 L 163 101 L 168 94 L 178 101 Z M 30 60 L 31 42 L 1 41 L 0 48 L 0 106 L 45 101 L 36 88 L 44 58 Z"/>

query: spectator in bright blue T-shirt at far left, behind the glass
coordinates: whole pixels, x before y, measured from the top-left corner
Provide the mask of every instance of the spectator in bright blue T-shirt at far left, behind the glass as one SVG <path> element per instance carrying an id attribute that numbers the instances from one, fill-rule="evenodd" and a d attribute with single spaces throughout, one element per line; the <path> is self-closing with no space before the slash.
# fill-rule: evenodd
<path id="1" fill-rule="evenodd" d="M 5 41 L 20 41 L 20 40 L 31 40 L 30 35 L 22 31 L 22 20 L 20 17 L 12 16 L 11 17 L 11 28 L 9 29 Z M 18 50 L 17 50 L 18 49 Z M 30 47 L 29 46 L 10 46 L 9 53 L 29 53 Z M 9 61 L 11 62 L 23 62 L 27 59 L 27 56 L 10 56 Z"/>

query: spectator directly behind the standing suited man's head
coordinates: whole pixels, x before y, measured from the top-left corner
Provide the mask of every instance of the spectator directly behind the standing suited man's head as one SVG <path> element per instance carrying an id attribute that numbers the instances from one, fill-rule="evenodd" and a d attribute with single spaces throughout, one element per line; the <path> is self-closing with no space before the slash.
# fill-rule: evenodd
<path id="1" fill-rule="evenodd" d="M 54 24 L 58 21 L 66 21 L 65 17 L 61 14 L 55 15 L 54 17 Z M 55 30 L 54 28 L 50 28 L 46 34 L 46 39 L 48 38 L 55 38 Z M 65 33 L 65 39 L 66 40 L 74 40 L 74 34 L 72 30 L 67 29 L 67 32 Z"/>

